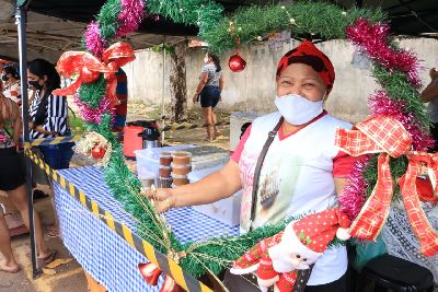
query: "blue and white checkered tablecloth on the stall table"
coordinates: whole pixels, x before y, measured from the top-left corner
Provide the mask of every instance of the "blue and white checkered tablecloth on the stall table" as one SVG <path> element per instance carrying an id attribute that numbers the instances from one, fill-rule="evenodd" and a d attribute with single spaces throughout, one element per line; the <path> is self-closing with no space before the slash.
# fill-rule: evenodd
<path id="1" fill-rule="evenodd" d="M 136 231 L 132 218 L 112 197 L 103 179 L 102 168 L 70 168 L 59 173 L 108 211 L 114 220 Z M 62 241 L 89 275 L 108 291 L 159 291 L 163 277 L 158 287 L 150 287 L 138 272 L 137 265 L 148 261 L 143 255 L 89 212 L 59 184 L 55 183 L 54 190 Z M 239 234 L 239 226 L 230 227 L 192 208 L 173 209 L 165 215 L 182 243 Z"/>

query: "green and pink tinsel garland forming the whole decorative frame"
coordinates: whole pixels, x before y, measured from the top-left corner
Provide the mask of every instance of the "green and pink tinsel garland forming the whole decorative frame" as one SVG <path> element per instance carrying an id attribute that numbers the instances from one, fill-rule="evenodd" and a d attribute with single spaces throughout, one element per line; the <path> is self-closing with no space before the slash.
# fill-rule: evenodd
<path id="1" fill-rule="evenodd" d="M 273 31 L 290 30 L 296 37 L 349 39 L 373 61 L 373 75 L 382 84 L 370 98 L 373 115 L 391 115 L 405 125 L 414 138 L 414 147 L 426 149 L 428 118 L 418 98 L 417 60 L 407 51 L 397 49 L 388 38 L 388 25 L 382 24 L 380 11 L 341 8 L 323 2 L 297 2 L 288 5 L 251 7 L 231 17 L 222 15 L 221 5 L 201 0 L 149 0 L 149 13 L 171 17 L 177 23 L 199 26 L 199 35 L 211 49 L 222 51 L 238 44 L 261 39 Z M 101 58 L 115 37 L 138 28 L 145 14 L 142 0 L 108 0 L 96 20 L 84 33 L 88 51 Z M 309 34 L 310 33 L 310 34 Z M 378 43 L 373 40 L 379 40 Z M 373 46 L 373 44 L 378 44 Z M 182 268 L 198 278 L 206 271 L 218 273 L 229 267 L 261 240 L 285 227 L 292 219 L 267 225 L 243 236 L 211 238 L 206 242 L 181 244 L 158 214 L 150 200 L 141 192 L 141 185 L 125 164 L 122 145 L 111 132 L 111 103 L 105 96 L 105 79 L 82 84 L 76 96 L 90 131 L 102 135 L 112 144 L 112 156 L 105 167 L 105 182 L 124 209 L 138 222 L 138 234 L 158 250 L 180 262 Z M 368 157 L 356 164 L 347 191 L 341 198 L 344 210 L 355 218 L 365 201 L 365 192 L 374 185 L 376 159 Z M 392 161 L 394 177 L 404 173 L 403 159 Z"/>

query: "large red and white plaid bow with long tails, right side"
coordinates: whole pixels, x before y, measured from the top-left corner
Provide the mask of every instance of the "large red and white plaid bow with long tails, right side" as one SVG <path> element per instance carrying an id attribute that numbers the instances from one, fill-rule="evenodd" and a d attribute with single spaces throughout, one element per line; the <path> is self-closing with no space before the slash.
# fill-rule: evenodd
<path id="1" fill-rule="evenodd" d="M 390 155 L 399 157 L 405 154 L 410 161 L 401 186 L 401 196 L 412 229 L 419 241 L 420 252 L 426 256 L 438 253 L 438 233 L 430 226 L 419 202 L 416 178 L 422 174 L 423 165 L 429 170 L 430 180 L 436 184 L 438 174 L 438 154 L 411 152 L 412 138 L 403 125 L 390 117 L 378 117 L 359 122 L 358 130 L 337 129 L 336 145 L 353 156 L 366 153 L 380 153 L 378 161 L 378 180 L 371 196 L 350 227 L 351 236 L 376 241 L 382 230 L 393 196 L 393 182 L 390 168 Z M 436 188 L 434 187 L 436 191 Z"/>

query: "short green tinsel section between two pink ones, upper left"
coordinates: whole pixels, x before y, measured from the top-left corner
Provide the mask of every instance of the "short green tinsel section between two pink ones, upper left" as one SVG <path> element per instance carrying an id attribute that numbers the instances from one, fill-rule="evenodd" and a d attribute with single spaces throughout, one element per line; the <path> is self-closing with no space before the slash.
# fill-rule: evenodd
<path id="1" fill-rule="evenodd" d="M 101 36 L 105 39 L 115 37 L 118 27 L 118 14 L 122 11 L 120 0 L 107 0 L 97 15 Z"/>

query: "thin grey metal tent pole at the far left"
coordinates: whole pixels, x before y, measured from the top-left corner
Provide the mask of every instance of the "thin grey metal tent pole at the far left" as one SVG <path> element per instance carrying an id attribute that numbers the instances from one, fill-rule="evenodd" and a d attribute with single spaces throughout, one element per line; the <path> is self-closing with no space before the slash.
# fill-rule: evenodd
<path id="1" fill-rule="evenodd" d="M 20 77 L 21 77 L 21 97 L 22 117 L 23 117 L 23 137 L 24 144 L 30 142 L 28 131 L 28 96 L 27 96 L 27 47 L 26 47 L 26 8 L 19 7 L 15 12 L 15 24 L 19 32 L 19 55 L 20 55 Z M 27 155 L 24 154 L 26 162 L 26 192 L 27 192 L 27 207 L 28 207 L 28 223 L 31 233 L 31 254 L 32 254 L 32 275 L 36 279 L 38 277 L 38 264 L 36 258 L 36 244 L 35 244 L 35 225 L 34 225 L 34 202 L 32 196 L 32 162 Z"/>

